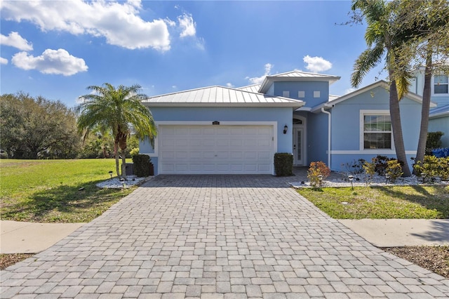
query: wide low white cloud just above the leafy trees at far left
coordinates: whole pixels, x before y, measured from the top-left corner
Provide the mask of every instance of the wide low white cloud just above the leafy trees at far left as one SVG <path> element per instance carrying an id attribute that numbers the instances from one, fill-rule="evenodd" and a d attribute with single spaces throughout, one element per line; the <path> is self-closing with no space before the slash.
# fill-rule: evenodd
<path id="1" fill-rule="evenodd" d="M 13 55 L 13 65 L 21 69 L 36 69 L 43 74 L 62 74 L 72 76 L 86 72 L 88 67 L 82 58 L 76 58 L 64 49 L 46 49 L 42 55 L 34 57 L 27 52 Z"/>

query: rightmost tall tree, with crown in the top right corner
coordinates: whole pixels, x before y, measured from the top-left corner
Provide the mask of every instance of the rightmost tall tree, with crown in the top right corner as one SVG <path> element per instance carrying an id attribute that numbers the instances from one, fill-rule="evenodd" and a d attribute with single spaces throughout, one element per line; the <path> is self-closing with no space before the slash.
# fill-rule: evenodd
<path id="1" fill-rule="evenodd" d="M 397 1 L 396 31 L 408 36 L 398 55 L 415 66 L 425 65 L 420 138 L 415 162 L 426 151 L 432 74 L 449 74 L 449 2 L 446 0 Z"/>

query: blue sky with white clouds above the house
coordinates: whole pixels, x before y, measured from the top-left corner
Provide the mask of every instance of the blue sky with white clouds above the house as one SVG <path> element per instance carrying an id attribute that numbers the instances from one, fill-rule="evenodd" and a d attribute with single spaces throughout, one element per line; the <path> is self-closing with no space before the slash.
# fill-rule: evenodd
<path id="1" fill-rule="evenodd" d="M 159 95 L 300 69 L 342 77 L 366 48 L 351 1 L 1 1 L 1 94 L 76 105 L 87 86 Z M 361 86 L 373 83 L 381 67 Z M 380 79 L 384 79 L 383 72 Z"/>

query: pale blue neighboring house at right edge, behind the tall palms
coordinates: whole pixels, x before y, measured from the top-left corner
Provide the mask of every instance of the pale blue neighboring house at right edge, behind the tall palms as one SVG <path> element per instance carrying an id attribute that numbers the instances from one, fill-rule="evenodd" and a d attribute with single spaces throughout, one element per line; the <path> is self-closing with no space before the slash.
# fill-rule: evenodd
<path id="1" fill-rule="evenodd" d="M 410 86 L 410 91 L 422 96 L 424 89 L 424 67 L 415 72 L 415 78 Z M 431 79 L 431 101 L 436 107 L 431 108 L 429 114 L 429 132 L 441 131 L 441 146 L 449 147 L 449 76 L 437 74 Z"/>

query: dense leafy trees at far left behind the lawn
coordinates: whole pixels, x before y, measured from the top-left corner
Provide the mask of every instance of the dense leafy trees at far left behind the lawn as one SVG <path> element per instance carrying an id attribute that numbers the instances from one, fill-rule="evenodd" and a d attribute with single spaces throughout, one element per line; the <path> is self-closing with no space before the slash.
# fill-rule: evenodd
<path id="1" fill-rule="evenodd" d="M 0 108 L 0 146 L 9 157 L 70 159 L 78 154 L 75 114 L 62 102 L 5 94 Z"/>

